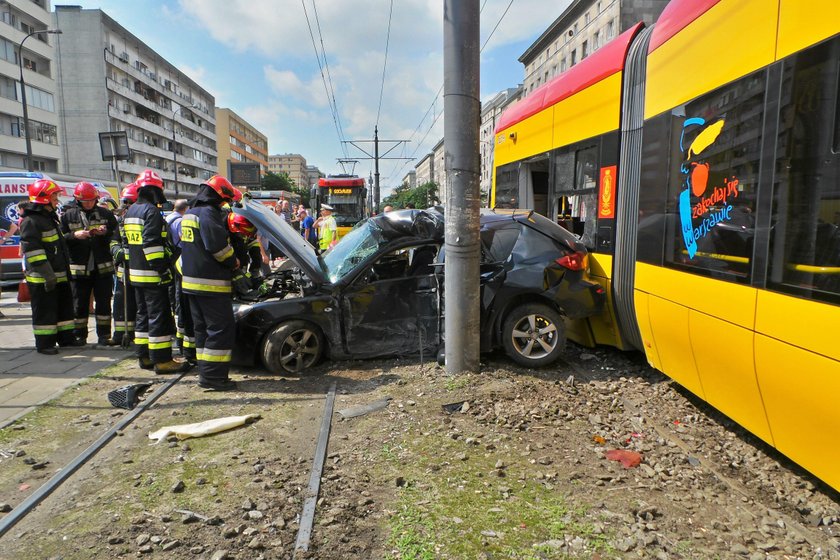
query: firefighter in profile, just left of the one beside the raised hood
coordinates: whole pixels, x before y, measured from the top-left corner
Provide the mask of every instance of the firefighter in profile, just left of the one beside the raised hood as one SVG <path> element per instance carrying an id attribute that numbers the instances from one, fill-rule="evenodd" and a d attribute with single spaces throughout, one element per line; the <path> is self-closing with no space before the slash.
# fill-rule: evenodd
<path id="1" fill-rule="evenodd" d="M 163 180 L 147 169 L 137 176 L 137 202 L 125 214 L 128 241 L 128 280 L 137 300 L 134 343 L 140 367 L 155 373 L 181 373 L 188 362 L 172 359 L 175 321 L 169 303 L 172 282 L 166 241 L 166 222 L 160 205 L 166 202 Z"/>

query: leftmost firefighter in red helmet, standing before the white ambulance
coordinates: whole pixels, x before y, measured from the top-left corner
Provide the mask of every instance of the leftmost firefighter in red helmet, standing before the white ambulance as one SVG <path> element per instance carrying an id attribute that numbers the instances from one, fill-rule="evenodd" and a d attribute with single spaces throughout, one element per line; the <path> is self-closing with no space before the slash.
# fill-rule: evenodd
<path id="1" fill-rule="evenodd" d="M 84 346 L 73 336 L 73 309 L 67 305 L 70 269 L 67 245 L 59 233 L 55 209 L 61 187 L 49 179 L 35 181 L 29 187 L 29 203 L 23 206 L 20 223 L 20 247 L 26 263 L 26 284 L 32 298 L 32 329 L 35 349 L 55 355 L 59 346 Z"/>

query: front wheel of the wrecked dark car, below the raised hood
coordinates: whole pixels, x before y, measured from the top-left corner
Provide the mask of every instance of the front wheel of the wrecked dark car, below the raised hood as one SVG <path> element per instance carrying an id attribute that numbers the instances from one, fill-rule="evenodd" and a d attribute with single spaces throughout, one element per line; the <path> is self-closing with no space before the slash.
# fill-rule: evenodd
<path id="1" fill-rule="evenodd" d="M 263 365 L 279 375 L 299 374 L 314 366 L 324 353 L 324 337 L 305 321 L 288 321 L 265 337 Z"/>

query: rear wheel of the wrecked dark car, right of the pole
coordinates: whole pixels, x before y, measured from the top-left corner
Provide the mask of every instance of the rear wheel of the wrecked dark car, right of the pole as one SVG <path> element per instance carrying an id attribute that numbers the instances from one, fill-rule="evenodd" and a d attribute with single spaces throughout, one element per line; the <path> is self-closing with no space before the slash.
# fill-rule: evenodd
<path id="1" fill-rule="evenodd" d="M 540 367 L 554 362 L 566 346 L 566 325 L 554 309 L 539 303 L 516 307 L 502 326 L 505 352 L 516 363 Z"/>

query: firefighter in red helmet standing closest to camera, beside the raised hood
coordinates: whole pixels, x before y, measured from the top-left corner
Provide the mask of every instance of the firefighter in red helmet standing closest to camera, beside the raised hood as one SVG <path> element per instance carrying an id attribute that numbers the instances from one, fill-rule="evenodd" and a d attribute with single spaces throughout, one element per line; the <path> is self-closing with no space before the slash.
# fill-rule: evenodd
<path id="1" fill-rule="evenodd" d="M 230 358 L 235 337 L 231 281 L 239 261 L 230 244 L 222 205 L 233 200 L 230 182 L 214 175 L 181 220 L 182 290 L 195 328 L 198 386 L 230 391 Z"/>

